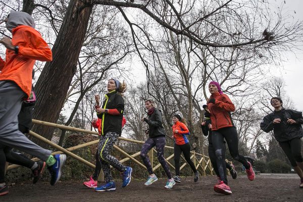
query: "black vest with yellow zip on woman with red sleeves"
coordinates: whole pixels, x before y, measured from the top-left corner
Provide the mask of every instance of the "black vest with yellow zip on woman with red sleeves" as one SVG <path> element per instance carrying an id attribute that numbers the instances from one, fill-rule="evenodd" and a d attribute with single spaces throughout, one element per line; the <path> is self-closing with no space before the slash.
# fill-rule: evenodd
<path id="1" fill-rule="evenodd" d="M 107 113 L 97 114 L 102 119 L 102 135 L 107 132 L 116 132 L 121 136 L 122 118 L 124 112 L 124 99 L 116 90 L 105 94 L 105 100 L 102 105 L 103 109 L 117 109 L 119 115 L 111 115 Z"/>

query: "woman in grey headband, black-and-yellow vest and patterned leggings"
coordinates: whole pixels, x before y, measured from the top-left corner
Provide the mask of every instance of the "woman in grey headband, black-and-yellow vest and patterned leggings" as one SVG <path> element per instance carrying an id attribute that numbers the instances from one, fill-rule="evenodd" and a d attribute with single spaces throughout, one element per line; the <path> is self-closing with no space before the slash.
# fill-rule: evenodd
<path id="1" fill-rule="evenodd" d="M 98 156 L 103 169 L 106 184 L 96 187 L 95 191 L 114 191 L 116 185 L 111 174 L 111 166 L 122 173 L 122 187 L 127 186 L 131 180 L 132 168 L 122 165 L 118 159 L 110 155 L 114 143 L 121 136 L 122 118 L 124 112 L 124 99 L 122 93 L 126 84 L 121 84 L 117 79 L 110 79 L 107 85 L 108 93 L 102 107 L 96 106 L 97 117 L 102 119 L 101 136 L 98 145 Z M 95 96 L 96 101 L 99 95 Z M 98 102 L 97 102 L 98 103 Z"/>

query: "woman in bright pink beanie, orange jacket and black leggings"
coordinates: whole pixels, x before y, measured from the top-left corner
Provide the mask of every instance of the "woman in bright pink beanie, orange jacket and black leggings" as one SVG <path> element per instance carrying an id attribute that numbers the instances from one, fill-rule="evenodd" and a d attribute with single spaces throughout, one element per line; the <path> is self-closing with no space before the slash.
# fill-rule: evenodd
<path id="1" fill-rule="evenodd" d="M 235 110 L 234 104 L 226 94 L 223 94 L 220 84 L 212 81 L 209 84 L 211 93 L 207 107 L 211 113 L 212 121 L 212 142 L 215 148 L 217 168 L 220 174 L 221 182 L 214 186 L 214 190 L 222 194 L 231 194 L 230 187 L 227 185 L 224 139 L 227 142 L 230 154 L 236 161 L 242 163 L 246 168 L 246 174 L 249 180 L 255 179 L 255 172 L 252 166 L 239 155 L 238 134 L 232 122 L 231 112 Z"/>

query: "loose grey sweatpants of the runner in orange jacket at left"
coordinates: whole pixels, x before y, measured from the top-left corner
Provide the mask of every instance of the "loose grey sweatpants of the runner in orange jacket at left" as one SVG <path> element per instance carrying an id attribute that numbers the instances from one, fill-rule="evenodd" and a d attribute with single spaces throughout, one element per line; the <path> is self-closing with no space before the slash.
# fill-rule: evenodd
<path id="1" fill-rule="evenodd" d="M 46 161 L 52 151 L 30 141 L 18 129 L 18 114 L 25 93 L 12 81 L 0 81 L 0 143 Z"/>

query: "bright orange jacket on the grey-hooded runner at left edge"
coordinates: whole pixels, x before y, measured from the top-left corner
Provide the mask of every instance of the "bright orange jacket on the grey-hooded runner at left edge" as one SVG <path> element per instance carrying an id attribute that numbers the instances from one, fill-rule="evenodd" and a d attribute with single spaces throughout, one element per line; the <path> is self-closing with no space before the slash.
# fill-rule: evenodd
<path id="1" fill-rule="evenodd" d="M 19 53 L 7 49 L 6 60 L 0 58 L 0 81 L 14 81 L 29 96 L 35 61 L 52 61 L 52 50 L 32 27 L 20 25 L 12 34 L 12 43 L 19 46 Z"/>

